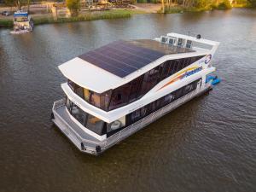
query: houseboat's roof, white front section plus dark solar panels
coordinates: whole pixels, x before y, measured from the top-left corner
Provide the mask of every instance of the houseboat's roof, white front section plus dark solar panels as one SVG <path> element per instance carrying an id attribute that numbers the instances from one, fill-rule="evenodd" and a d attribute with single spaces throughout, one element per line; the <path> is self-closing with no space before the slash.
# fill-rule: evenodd
<path id="1" fill-rule="evenodd" d="M 165 55 L 195 52 L 151 39 L 119 40 L 90 50 L 59 66 L 67 79 L 102 93 L 146 73 L 154 61 Z M 137 74 L 137 75 L 136 75 Z"/>

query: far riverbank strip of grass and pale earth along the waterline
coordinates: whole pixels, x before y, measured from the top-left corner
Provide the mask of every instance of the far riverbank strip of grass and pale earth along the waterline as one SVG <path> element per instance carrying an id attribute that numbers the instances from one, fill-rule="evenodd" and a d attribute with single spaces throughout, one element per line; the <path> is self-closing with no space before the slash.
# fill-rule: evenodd
<path id="1" fill-rule="evenodd" d="M 84 11 L 81 12 L 79 16 L 72 18 L 59 18 L 54 20 L 51 14 L 39 14 L 32 15 L 34 25 L 43 25 L 50 23 L 65 23 L 65 22 L 74 22 L 74 21 L 86 21 L 86 20 L 111 20 L 119 18 L 129 18 L 131 15 L 140 15 L 140 14 L 162 14 L 163 10 L 161 9 L 160 3 L 137 3 L 132 5 L 134 9 L 111 9 L 103 11 Z M 213 9 L 232 9 L 232 8 L 249 8 L 247 4 L 234 4 L 233 7 L 226 8 L 222 6 L 207 6 L 205 8 L 184 8 L 178 5 L 172 5 L 166 7 L 165 14 L 182 14 L 184 12 L 202 12 L 202 11 L 211 11 Z M 0 27 L 12 27 L 13 26 L 13 17 L 8 16 L 4 17 L 0 15 Z"/>

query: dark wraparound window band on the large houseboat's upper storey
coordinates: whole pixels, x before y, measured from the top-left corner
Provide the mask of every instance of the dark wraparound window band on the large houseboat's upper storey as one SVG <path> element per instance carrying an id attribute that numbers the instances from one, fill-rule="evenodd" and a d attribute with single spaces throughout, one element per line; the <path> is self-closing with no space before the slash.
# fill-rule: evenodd
<path id="1" fill-rule="evenodd" d="M 127 84 L 124 84 L 114 90 L 108 90 L 102 94 L 82 88 L 71 80 L 68 80 L 68 85 L 86 102 L 89 102 L 96 108 L 109 111 L 137 101 L 137 99 L 144 96 L 160 81 L 170 77 L 178 71 L 181 71 L 183 68 L 188 67 L 190 64 L 200 60 L 204 56 L 205 55 L 165 61 L 159 66 L 149 70 L 147 73 L 144 73 L 137 79 L 133 79 Z"/>

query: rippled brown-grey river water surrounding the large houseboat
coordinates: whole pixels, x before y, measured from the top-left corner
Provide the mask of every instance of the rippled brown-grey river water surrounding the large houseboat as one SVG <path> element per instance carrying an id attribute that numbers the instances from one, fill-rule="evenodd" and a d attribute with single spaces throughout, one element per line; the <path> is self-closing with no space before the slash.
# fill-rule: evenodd
<path id="1" fill-rule="evenodd" d="M 0 191 L 256 191 L 256 10 L 136 15 L 0 29 Z M 167 32 L 221 42 L 222 82 L 98 157 L 50 121 L 57 66 L 117 39 Z"/>

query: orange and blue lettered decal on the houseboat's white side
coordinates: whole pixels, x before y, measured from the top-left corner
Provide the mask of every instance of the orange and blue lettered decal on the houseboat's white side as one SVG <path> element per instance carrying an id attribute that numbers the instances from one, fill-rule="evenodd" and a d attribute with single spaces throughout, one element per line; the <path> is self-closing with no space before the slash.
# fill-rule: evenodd
<path id="1" fill-rule="evenodd" d="M 185 69 L 183 71 L 181 71 L 180 73 L 177 73 L 177 75 L 175 75 L 172 79 L 170 79 L 170 81 L 168 83 L 166 83 L 165 85 L 163 85 L 162 87 L 160 87 L 160 89 L 158 90 L 161 90 L 163 89 L 164 87 L 166 87 L 167 85 L 169 84 L 172 84 L 173 82 L 177 81 L 177 80 L 180 80 L 180 79 L 184 79 L 184 78 L 187 78 L 189 77 L 190 75 L 193 75 L 195 73 L 198 73 L 202 70 L 202 67 L 190 67 L 188 69 Z M 158 91 L 157 90 L 157 91 Z"/>

